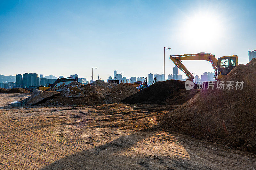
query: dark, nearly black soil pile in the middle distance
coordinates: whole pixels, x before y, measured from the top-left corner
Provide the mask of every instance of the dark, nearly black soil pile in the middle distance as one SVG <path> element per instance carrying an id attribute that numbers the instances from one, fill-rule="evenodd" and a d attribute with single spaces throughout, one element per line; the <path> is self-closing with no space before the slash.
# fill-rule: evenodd
<path id="1" fill-rule="evenodd" d="M 140 90 L 138 93 L 125 98 L 125 103 L 168 103 L 182 104 L 195 96 L 196 89 L 186 90 L 185 81 L 167 80 Z"/>

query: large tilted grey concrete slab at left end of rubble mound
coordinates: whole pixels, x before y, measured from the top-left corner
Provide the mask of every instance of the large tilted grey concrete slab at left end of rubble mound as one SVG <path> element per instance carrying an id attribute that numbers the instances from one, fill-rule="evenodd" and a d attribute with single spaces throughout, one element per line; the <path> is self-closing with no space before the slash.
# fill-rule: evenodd
<path id="1" fill-rule="evenodd" d="M 42 90 L 34 89 L 31 96 L 28 99 L 27 104 L 28 105 L 36 104 L 48 97 L 56 95 L 58 93 L 60 93 L 60 92 L 58 92 L 58 91 L 42 91 Z"/>

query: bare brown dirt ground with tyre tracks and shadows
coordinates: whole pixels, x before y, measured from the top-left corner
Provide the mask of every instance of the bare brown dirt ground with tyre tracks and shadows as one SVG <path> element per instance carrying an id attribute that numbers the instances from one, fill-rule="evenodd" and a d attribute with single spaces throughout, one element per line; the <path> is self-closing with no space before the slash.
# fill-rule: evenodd
<path id="1" fill-rule="evenodd" d="M 0 169 L 255 169 L 256 155 L 161 128 L 179 105 L 17 106 L 0 94 Z"/>

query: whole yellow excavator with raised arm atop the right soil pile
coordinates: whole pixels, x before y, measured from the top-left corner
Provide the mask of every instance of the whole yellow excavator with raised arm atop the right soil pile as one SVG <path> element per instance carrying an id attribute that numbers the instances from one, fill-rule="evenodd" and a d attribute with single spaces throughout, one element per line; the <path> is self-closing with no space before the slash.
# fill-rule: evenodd
<path id="1" fill-rule="evenodd" d="M 182 64 L 181 60 L 206 60 L 212 63 L 212 67 L 215 70 L 214 76 L 216 80 L 227 75 L 233 68 L 238 66 L 237 55 L 223 56 L 218 59 L 215 55 L 210 53 L 197 53 L 197 54 L 182 54 L 182 55 L 170 55 L 172 62 L 180 68 L 180 70 L 188 76 L 188 79 L 193 81 L 195 78 L 188 69 Z"/>

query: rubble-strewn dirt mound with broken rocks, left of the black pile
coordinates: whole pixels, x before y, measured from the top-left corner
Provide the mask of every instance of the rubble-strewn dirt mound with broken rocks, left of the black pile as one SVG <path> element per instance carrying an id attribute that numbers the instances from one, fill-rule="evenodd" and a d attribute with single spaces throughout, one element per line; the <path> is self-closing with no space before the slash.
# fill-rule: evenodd
<path id="1" fill-rule="evenodd" d="M 99 84 L 99 83 L 97 83 Z M 104 86 L 102 86 L 104 84 Z M 49 91 L 59 91 L 60 93 L 42 101 L 41 105 L 97 105 L 117 103 L 120 100 L 137 93 L 139 90 L 131 85 L 120 83 L 114 87 L 110 83 L 102 83 L 100 86 L 94 84 L 84 85 L 79 82 L 58 88 L 47 89 Z M 109 88 L 111 87 L 111 88 Z"/>

